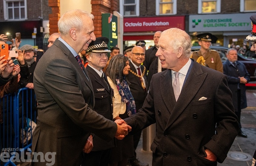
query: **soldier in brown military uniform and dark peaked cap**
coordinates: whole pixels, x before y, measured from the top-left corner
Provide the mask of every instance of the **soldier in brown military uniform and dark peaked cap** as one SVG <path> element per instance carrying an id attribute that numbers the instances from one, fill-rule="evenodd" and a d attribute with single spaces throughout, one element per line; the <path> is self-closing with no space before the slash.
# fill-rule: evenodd
<path id="1" fill-rule="evenodd" d="M 211 36 L 212 34 L 210 33 L 203 33 L 196 36 L 198 37 L 198 44 L 201 48 L 200 50 L 193 52 L 191 58 L 198 60 L 198 58 L 203 57 L 205 61 L 203 60 L 204 62 L 202 65 L 223 73 L 223 65 L 219 53 L 215 50 L 209 49 L 212 41 Z"/>

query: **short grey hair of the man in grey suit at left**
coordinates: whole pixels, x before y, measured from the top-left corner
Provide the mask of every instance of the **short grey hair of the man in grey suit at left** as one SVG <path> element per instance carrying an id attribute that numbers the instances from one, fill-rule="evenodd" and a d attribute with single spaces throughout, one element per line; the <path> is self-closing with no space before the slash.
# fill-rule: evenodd
<path id="1" fill-rule="evenodd" d="M 71 28 L 76 28 L 77 31 L 80 32 L 83 27 L 82 20 L 84 16 L 89 17 L 92 20 L 94 19 L 94 16 L 91 13 L 80 9 L 64 13 L 58 21 L 58 28 L 61 35 L 67 35 Z"/>

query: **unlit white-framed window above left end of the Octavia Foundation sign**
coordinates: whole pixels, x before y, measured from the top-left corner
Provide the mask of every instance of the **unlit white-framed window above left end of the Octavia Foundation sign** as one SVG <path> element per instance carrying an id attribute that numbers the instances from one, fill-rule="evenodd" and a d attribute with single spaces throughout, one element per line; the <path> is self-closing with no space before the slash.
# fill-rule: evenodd
<path id="1" fill-rule="evenodd" d="M 139 16 L 139 0 L 120 0 L 120 13 L 124 16 Z"/>

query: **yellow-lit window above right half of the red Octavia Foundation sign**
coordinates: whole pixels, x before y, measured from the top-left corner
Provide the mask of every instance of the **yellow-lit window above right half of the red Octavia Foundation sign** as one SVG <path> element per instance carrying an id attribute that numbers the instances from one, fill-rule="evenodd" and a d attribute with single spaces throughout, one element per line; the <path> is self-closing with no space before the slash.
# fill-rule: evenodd
<path id="1" fill-rule="evenodd" d="M 177 14 L 177 0 L 156 0 L 156 15 Z"/>

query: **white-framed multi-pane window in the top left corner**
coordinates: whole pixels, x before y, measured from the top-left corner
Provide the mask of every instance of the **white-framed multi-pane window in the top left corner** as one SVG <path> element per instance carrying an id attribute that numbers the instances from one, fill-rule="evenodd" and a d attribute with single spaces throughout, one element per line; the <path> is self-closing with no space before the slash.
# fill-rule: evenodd
<path id="1" fill-rule="evenodd" d="M 25 20 L 27 18 L 27 1 L 4 0 L 5 20 Z"/>

